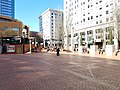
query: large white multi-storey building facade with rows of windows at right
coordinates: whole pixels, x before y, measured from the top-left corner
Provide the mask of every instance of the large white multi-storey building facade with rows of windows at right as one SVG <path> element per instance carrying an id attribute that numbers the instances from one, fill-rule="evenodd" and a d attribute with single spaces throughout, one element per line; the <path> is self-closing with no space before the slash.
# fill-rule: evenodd
<path id="1" fill-rule="evenodd" d="M 65 48 L 79 51 L 98 45 L 105 49 L 112 41 L 119 46 L 120 0 L 64 0 Z"/>

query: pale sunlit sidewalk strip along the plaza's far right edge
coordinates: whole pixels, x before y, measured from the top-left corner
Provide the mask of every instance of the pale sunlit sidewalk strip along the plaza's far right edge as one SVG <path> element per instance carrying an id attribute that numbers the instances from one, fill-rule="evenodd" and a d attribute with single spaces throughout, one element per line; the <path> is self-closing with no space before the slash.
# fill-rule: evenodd
<path id="1" fill-rule="evenodd" d="M 49 52 L 49 53 L 56 53 L 56 52 Z M 106 58 L 106 59 L 116 59 L 120 60 L 120 53 L 115 56 L 106 56 L 105 54 L 87 54 L 87 53 L 78 53 L 78 52 L 60 52 L 60 54 L 71 54 L 71 55 L 80 55 L 80 56 L 89 56 L 89 57 L 97 57 L 97 58 Z"/>

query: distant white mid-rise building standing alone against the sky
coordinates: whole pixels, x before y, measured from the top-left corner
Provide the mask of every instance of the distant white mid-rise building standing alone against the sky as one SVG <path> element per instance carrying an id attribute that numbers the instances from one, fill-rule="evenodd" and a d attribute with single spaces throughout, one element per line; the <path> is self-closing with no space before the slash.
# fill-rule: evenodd
<path id="1" fill-rule="evenodd" d="M 63 11 L 47 9 L 39 17 L 39 29 L 43 33 L 45 47 L 55 47 L 64 38 Z"/>

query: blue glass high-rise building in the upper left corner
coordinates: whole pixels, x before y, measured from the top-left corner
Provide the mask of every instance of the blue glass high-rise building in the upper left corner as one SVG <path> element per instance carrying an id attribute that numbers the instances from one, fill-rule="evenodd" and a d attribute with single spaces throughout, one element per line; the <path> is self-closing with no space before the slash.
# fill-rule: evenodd
<path id="1" fill-rule="evenodd" d="M 0 0 L 0 15 L 14 18 L 14 0 Z"/>

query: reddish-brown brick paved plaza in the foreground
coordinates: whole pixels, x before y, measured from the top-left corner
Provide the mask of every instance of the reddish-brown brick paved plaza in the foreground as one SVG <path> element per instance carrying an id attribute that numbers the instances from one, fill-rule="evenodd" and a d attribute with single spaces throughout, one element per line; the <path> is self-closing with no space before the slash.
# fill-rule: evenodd
<path id="1" fill-rule="evenodd" d="M 50 53 L 0 55 L 0 90 L 120 90 L 120 61 Z"/>

